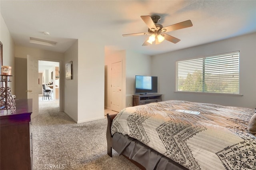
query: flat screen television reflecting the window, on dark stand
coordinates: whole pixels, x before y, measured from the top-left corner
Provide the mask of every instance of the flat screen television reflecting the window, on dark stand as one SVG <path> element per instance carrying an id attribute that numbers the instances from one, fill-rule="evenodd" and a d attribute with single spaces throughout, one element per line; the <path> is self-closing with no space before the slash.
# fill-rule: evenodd
<path id="1" fill-rule="evenodd" d="M 150 95 L 154 93 L 157 93 L 156 76 L 135 76 L 135 94 Z"/>

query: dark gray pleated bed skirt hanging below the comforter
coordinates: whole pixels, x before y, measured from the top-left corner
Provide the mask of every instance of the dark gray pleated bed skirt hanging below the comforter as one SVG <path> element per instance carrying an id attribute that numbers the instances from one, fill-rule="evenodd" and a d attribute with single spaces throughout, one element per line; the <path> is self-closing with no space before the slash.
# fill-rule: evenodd
<path id="1" fill-rule="evenodd" d="M 119 155 L 127 156 L 147 170 L 188 170 L 128 135 L 115 133 L 112 138 L 112 148 Z"/>

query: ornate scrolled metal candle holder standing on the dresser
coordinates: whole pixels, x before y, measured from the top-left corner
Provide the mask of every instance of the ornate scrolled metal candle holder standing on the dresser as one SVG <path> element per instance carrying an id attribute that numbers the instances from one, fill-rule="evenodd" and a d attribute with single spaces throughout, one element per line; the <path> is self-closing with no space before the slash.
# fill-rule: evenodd
<path id="1" fill-rule="evenodd" d="M 11 88 L 8 87 L 10 77 L 12 75 L 0 75 L 1 88 L 0 88 L 0 110 L 10 110 L 11 113 L 15 113 L 15 100 L 11 95 Z"/>

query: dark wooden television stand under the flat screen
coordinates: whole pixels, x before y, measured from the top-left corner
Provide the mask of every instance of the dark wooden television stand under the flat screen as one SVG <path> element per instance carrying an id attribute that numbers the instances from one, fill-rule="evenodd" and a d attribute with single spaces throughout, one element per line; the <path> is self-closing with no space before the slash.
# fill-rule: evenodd
<path id="1" fill-rule="evenodd" d="M 143 94 L 143 95 L 132 95 L 133 106 L 146 105 L 148 103 L 155 103 L 162 101 L 161 94 Z"/>

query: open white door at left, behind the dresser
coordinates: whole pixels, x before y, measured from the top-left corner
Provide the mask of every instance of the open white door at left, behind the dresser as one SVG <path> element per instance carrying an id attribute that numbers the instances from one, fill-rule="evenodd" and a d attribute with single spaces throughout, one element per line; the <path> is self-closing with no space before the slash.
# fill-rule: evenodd
<path id="1" fill-rule="evenodd" d="M 28 99 L 33 100 L 33 113 L 31 118 L 38 115 L 38 59 L 28 55 L 27 57 L 27 93 Z"/>

